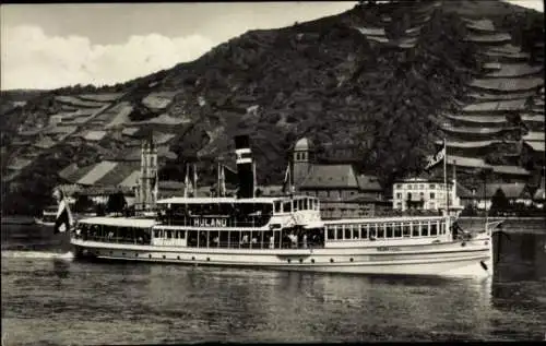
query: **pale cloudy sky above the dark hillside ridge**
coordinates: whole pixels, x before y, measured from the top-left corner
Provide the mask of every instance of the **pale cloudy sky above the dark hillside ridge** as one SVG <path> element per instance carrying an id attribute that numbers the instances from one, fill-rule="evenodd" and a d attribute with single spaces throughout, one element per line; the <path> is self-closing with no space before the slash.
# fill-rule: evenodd
<path id="1" fill-rule="evenodd" d="M 509 0 L 544 12 L 542 0 Z M 351 2 L 0 5 L 0 88 L 115 84 L 192 61 L 249 29 L 352 9 Z"/>

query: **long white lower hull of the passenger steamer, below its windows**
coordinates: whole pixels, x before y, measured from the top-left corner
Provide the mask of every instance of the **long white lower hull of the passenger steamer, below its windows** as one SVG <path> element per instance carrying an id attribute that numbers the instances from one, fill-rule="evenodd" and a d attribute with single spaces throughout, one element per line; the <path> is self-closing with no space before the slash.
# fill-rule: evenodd
<path id="1" fill-rule="evenodd" d="M 116 244 L 73 239 L 76 254 L 100 260 L 244 266 L 323 273 L 487 276 L 492 275 L 491 240 L 343 249 L 202 249 Z M 387 248 L 387 250 L 385 250 Z"/>

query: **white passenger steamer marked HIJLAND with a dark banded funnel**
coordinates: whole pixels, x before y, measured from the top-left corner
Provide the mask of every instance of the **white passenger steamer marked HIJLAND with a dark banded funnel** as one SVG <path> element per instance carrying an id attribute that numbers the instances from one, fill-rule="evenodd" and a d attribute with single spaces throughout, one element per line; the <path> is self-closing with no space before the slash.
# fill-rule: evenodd
<path id="1" fill-rule="evenodd" d="M 76 255 L 332 273 L 492 273 L 491 228 L 455 236 L 450 216 L 323 220 L 317 198 L 254 198 L 248 138 L 236 138 L 236 153 L 237 196 L 161 200 L 156 219 L 81 219 L 71 239 Z"/>

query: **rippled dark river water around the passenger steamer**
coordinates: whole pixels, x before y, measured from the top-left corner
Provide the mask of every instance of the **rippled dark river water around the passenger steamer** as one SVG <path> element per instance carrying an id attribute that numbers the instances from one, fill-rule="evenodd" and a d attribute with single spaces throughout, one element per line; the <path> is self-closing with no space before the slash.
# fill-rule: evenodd
<path id="1" fill-rule="evenodd" d="M 2 345 L 543 341 L 546 232 L 505 231 L 492 277 L 448 279 L 88 263 L 2 225 Z"/>

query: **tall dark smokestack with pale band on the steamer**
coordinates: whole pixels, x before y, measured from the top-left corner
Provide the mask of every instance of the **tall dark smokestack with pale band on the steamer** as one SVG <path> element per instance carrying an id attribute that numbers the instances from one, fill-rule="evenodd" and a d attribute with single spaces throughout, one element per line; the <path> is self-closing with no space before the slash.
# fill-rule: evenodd
<path id="1" fill-rule="evenodd" d="M 250 139 L 248 135 L 241 134 L 235 136 L 235 154 L 237 155 L 237 176 L 239 178 L 237 198 L 251 199 L 254 194 L 254 175 Z"/>

